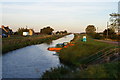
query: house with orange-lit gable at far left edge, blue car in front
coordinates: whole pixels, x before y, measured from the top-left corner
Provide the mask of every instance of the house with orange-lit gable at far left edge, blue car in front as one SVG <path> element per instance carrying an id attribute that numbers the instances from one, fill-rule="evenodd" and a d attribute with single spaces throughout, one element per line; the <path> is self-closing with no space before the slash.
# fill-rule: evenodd
<path id="1" fill-rule="evenodd" d="M 8 37 L 13 34 L 12 29 L 9 28 L 9 26 L 5 27 L 4 25 L 1 26 L 0 28 L 0 35 L 2 37 Z"/>

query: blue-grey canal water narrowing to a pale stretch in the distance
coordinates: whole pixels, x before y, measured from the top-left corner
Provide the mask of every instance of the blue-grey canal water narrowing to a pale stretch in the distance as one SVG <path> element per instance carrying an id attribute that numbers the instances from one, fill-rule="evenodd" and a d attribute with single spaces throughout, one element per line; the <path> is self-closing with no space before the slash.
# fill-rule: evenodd
<path id="1" fill-rule="evenodd" d="M 60 66 L 60 61 L 55 52 L 47 48 L 57 43 L 69 42 L 74 35 L 67 35 L 51 43 L 27 46 L 8 52 L 2 56 L 3 78 L 40 78 L 43 72 Z"/>

